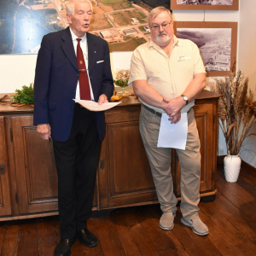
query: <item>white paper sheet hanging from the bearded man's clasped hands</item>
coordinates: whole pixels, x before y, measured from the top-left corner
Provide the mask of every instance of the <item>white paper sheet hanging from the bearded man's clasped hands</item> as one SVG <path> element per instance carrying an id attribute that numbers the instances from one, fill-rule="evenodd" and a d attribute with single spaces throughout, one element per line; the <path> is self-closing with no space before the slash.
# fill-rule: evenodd
<path id="1" fill-rule="evenodd" d="M 181 119 L 177 124 L 171 124 L 171 121 L 168 119 L 169 116 L 166 113 L 162 113 L 157 147 L 184 150 L 188 137 L 187 113 L 181 114 Z"/>

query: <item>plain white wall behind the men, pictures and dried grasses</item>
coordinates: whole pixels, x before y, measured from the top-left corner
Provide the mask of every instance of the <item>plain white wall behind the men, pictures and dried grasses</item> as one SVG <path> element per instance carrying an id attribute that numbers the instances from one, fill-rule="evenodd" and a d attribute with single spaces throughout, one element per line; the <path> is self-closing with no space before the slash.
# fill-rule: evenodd
<path id="1" fill-rule="evenodd" d="M 173 11 L 174 20 L 179 21 L 230 21 L 238 22 L 237 63 L 238 68 L 249 77 L 249 86 L 256 90 L 256 9 L 255 0 L 240 0 L 239 11 Z M 114 52 L 111 54 L 113 72 L 117 68 L 129 68 L 132 52 Z M 30 84 L 34 79 L 37 55 L 0 55 L 0 93 L 15 92 L 22 85 Z M 249 142 L 255 139 L 250 138 Z M 256 151 L 253 144 L 250 150 Z M 224 153 L 220 149 L 224 149 Z M 219 130 L 219 155 L 226 154 L 222 131 Z M 255 150 L 254 150 L 255 149 Z M 254 154 L 241 153 L 242 160 L 256 166 Z"/>

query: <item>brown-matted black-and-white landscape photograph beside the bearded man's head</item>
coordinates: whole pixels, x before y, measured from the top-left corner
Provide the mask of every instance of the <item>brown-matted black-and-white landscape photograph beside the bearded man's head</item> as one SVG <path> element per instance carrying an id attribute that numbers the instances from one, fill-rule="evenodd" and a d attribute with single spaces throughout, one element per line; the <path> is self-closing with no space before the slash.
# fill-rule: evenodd
<path id="1" fill-rule="evenodd" d="M 227 76 L 236 61 L 237 22 L 175 21 L 177 38 L 200 49 L 207 77 Z"/>

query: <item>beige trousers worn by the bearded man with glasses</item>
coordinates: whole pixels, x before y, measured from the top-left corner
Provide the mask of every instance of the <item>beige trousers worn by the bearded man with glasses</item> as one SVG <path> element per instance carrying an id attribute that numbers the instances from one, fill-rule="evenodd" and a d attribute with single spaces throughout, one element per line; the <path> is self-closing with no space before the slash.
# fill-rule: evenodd
<path id="1" fill-rule="evenodd" d="M 173 193 L 171 172 L 172 148 L 157 148 L 160 117 L 143 108 L 140 133 L 148 155 L 154 185 L 162 212 L 176 212 L 177 198 Z M 188 138 L 185 150 L 176 149 L 181 166 L 181 204 L 184 218 L 197 218 L 200 201 L 201 153 L 193 108 L 188 113 Z M 170 134 L 175 136 L 175 134 Z"/>

